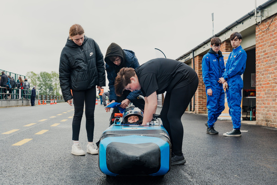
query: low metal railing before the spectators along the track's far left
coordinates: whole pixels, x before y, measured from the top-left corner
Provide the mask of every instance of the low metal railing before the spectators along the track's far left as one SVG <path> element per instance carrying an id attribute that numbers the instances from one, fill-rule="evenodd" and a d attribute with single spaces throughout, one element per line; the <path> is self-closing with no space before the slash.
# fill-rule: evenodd
<path id="1" fill-rule="evenodd" d="M 11 89 L 0 87 L 0 99 L 31 99 L 32 90 Z M 49 103 L 52 99 L 56 102 L 64 102 L 62 95 L 39 95 L 36 91 L 36 99 Z"/>

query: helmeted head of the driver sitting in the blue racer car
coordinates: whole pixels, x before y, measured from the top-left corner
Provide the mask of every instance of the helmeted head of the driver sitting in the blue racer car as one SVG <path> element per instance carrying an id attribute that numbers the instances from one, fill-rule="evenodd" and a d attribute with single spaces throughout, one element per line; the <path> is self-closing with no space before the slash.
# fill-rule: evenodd
<path id="1" fill-rule="evenodd" d="M 143 120 L 143 112 L 138 107 L 129 107 L 124 111 L 123 123 L 141 124 Z"/>

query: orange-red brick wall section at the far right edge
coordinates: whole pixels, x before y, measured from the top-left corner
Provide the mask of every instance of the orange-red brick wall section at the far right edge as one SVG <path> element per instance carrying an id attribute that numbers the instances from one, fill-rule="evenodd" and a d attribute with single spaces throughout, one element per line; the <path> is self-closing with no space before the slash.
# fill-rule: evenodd
<path id="1" fill-rule="evenodd" d="M 269 27 L 266 31 L 256 25 L 256 124 L 269 127 L 277 127 L 277 14 L 273 17 L 259 25 Z"/>

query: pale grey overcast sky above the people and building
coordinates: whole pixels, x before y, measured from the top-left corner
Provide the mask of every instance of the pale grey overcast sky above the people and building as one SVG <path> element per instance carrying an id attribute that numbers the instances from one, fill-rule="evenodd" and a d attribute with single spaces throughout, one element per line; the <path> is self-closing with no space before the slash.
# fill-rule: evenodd
<path id="1" fill-rule="evenodd" d="M 267 0 L 257 0 L 257 6 Z M 142 64 L 176 59 L 255 8 L 255 0 L 2 0 L 0 69 L 58 72 L 71 25 L 81 24 L 105 55 L 117 43 Z"/>

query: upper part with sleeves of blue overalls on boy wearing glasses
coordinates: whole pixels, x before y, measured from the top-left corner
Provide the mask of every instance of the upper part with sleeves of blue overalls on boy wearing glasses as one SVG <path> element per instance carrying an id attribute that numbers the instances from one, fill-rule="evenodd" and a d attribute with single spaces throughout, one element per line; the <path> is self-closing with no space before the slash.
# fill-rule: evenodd
<path id="1" fill-rule="evenodd" d="M 212 85 L 220 84 L 217 81 L 222 77 L 225 71 L 224 58 L 222 52 L 218 54 L 212 48 L 202 59 L 202 76 L 206 89 L 210 89 Z"/>

